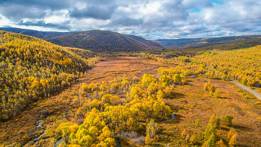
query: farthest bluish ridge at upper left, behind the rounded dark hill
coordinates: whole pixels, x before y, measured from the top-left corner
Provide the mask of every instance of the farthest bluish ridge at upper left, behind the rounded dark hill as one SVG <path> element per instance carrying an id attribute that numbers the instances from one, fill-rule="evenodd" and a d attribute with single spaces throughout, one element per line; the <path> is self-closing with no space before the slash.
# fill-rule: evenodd
<path id="1" fill-rule="evenodd" d="M 37 31 L 32 29 L 23 29 L 23 28 L 16 28 L 16 27 L 0 27 L 0 30 L 13 32 L 13 33 L 20 33 L 24 35 L 41 38 L 41 39 L 58 37 L 58 36 L 75 33 L 75 32 L 44 32 L 44 31 Z"/>

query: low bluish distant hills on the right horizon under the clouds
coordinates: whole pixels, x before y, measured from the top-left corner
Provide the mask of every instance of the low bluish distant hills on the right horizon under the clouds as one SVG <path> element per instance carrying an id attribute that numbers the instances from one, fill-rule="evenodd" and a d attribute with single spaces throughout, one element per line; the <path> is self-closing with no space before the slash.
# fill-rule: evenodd
<path id="1" fill-rule="evenodd" d="M 252 41 L 261 39 L 261 35 L 216 37 L 216 38 L 188 38 L 188 39 L 158 39 L 153 40 L 164 47 L 176 48 L 202 48 L 214 45 L 231 44 L 243 41 Z"/>

